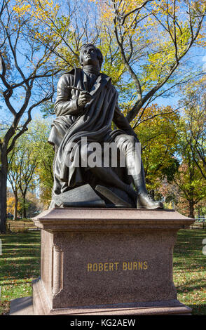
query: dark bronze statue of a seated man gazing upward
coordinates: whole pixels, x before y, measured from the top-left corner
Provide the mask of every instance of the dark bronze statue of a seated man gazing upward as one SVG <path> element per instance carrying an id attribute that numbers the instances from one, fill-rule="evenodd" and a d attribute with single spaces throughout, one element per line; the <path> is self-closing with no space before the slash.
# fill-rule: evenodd
<path id="1" fill-rule="evenodd" d="M 161 209 L 163 204 L 153 201 L 146 191 L 141 152 L 135 148 L 139 140 L 119 110 L 118 93 L 111 78 L 100 73 L 102 61 L 98 48 L 92 44 L 83 46 L 80 53 L 82 69 L 74 68 L 63 74 L 57 84 L 57 118 L 48 139 L 55 148 L 53 200 L 89 184 L 94 190 L 97 185 L 110 189 L 116 196 L 130 201 L 132 207 Z M 118 129 L 111 128 L 112 121 Z M 81 145 L 83 139 L 86 147 Z M 103 162 L 90 166 L 89 161 L 86 166 L 76 166 L 77 152 L 74 148 L 71 152 L 72 146 L 81 149 L 83 164 L 92 152 L 90 143 L 101 146 L 114 143 L 118 152 L 125 156 L 125 169 L 106 167 Z"/>

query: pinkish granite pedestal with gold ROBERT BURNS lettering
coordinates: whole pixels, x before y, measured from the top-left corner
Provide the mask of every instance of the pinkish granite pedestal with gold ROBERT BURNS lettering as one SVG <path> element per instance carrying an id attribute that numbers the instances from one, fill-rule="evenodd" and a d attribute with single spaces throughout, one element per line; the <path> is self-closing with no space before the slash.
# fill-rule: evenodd
<path id="1" fill-rule="evenodd" d="M 172 280 L 177 231 L 191 223 L 193 219 L 169 210 L 41 213 L 34 218 L 41 228 L 34 315 L 191 314 L 177 300 Z M 14 314 L 20 315 L 20 309 Z"/>

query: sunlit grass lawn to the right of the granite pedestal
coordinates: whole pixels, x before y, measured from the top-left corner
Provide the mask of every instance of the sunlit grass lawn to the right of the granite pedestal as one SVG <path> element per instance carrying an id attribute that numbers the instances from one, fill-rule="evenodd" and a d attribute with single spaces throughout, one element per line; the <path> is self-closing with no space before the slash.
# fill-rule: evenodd
<path id="1" fill-rule="evenodd" d="M 174 246 L 173 278 L 177 298 L 193 308 L 193 315 L 206 315 L 206 256 L 202 239 L 206 230 L 179 230 Z"/>

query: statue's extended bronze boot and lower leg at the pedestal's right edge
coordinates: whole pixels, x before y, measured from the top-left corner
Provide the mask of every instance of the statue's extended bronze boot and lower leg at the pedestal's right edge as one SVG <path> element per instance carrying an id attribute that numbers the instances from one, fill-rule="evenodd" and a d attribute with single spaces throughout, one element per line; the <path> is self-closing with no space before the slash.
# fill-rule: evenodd
<path id="1" fill-rule="evenodd" d="M 163 209 L 163 203 L 160 201 L 154 201 L 151 197 L 149 197 L 149 194 L 146 191 L 144 167 L 142 161 L 139 175 L 133 175 L 132 178 L 137 190 L 137 209 Z"/>

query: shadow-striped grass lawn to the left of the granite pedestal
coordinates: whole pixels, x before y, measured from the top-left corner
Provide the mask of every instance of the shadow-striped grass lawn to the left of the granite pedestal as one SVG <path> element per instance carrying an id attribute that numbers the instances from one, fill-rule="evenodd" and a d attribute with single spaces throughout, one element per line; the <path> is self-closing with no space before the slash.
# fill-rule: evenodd
<path id="1" fill-rule="evenodd" d="M 1 235 L 0 315 L 9 312 L 11 299 L 32 296 L 32 279 L 39 277 L 40 231 Z"/>

